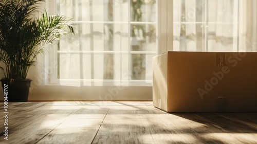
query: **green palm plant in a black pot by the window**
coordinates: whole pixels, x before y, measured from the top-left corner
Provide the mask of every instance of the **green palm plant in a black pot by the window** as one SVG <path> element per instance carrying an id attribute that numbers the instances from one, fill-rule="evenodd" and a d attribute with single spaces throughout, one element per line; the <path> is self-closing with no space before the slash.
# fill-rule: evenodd
<path id="1" fill-rule="evenodd" d="M 2 86 L 8 102 L 28 100 L 31 79 L 28 69 L 44 52 L 44 45 L 74 33 L 65 16 L 41 13 L 44 0 L 0 0 L 0 67 Z M 38 16 L 40 14 L 40 16 Z M 8 89 L 7 89 L 8 88 Z"/>

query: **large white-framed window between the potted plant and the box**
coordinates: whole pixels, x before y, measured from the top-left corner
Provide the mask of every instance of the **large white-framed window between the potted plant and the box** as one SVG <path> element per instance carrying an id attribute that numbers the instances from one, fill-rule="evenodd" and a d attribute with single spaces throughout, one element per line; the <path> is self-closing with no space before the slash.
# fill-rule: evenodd
<path id="1" fill-rule="evenodd" d="M 51 14 L 66 15 L 75 35 L 50 48 L 57 61 L 50 83 L 152 85 L 157 55 L 157 0 L 56 0 Z"/>

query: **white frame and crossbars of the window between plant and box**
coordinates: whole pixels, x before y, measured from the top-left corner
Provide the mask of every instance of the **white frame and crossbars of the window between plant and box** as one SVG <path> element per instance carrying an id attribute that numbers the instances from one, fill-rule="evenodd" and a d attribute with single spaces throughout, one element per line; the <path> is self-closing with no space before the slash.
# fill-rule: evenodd
<path id="1" fill-rule="evenodd" d="M 128 22 L 82 22 L 82 23 L 124 23 L 124 24 L 155 24 L 156 25 L 156 51 L 132 51 L 131 49 L 128 49 L 128 51 L 69 51 L 69 53 L 109 53 L 109 54 L 115 54 L 115 53 L 122 53 L 122 54 L 151 54 L 151 55 L 158 55 L 159 54 L 159 48 L 158 48 L 158 4 L 161 0 L 157 1 L 157 7 L 156 7 L 156 22 L 131 22 L 130 19 Z M 130 10 L 131 1 L 128 0 L 128 9 Z M 48 11 L 49 15 L 54 15 L 57 13 L 57 6 L 56 6 L 56 0 L 53 1 L 47 1 L 46 3 L 46 10 Z M 131 12 L 128 12 L 128 17 L 131 17 Z M 81 23 L 78 21 L 74 21 L 75 23 Z M 128 35 L 131 35 L 131 27 L 128 26 Z M 128 38 L 128 43 L 130 44 L 130 38 Z M 129 46 L 130 47 L 130 46 Z M 58 61 L 57 53 L 65 53 L 67 51 L 58 51 L 56 45 L 51 45 L 46 47 L 47 51 L 49 53 L 56 53 L 56 55 L 45 55 L 45 71 L 47 73 L 47 77 L 45 77 L 45 85 L 67 85 L 67 86 L 152 86 L 152 80 L 132 80 L 129 78 L 128 80 L 101 80 L 101 79 L 58 79 L 58 65 L 56 62 Z M 129 56 L 128 59 L 128 70 L 127 70 L 127 76 L 131 76 L 131 59 Z"/>

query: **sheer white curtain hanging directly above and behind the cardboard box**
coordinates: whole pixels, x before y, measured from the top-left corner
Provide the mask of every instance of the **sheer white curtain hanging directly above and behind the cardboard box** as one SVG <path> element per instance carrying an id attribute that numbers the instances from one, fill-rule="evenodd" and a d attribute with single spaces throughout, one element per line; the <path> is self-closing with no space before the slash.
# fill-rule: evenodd
<path id="1" fill-rule="evenodd" d="M 173 1 L 173 50 L 256 51 L 256 3 L 255 0 Z M 243 48 L 245 45 L 251 48 Z"/>

